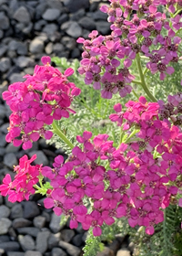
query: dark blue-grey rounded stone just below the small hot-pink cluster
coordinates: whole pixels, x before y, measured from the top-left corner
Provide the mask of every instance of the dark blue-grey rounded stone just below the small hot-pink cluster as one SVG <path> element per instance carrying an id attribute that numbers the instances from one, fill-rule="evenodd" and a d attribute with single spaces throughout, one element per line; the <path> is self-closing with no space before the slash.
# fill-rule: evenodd
<path id="1" fill-rule="evenodd" d="M 40 210 L 34 201 L 24 202 L 24 218 L 31 219 L 39 215 Z"/>

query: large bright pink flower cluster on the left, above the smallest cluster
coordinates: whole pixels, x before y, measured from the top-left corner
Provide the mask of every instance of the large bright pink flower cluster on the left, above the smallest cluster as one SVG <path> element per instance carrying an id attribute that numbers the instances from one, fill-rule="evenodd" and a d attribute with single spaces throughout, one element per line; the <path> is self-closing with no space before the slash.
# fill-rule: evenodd
<path id="1" fill-rule="evenodd" d="M 32 142 L 40 136 L 50 139 L 51 131 L 45 129 L 54 120 L 69 117 L 71 101 L 80 94 L 73 82 L 67 77 L 74 70 L 66 69 L 65 74 L 50 65 L 50 58 L 43 57 L 44 66 L 35 66 L 34 75 L 25 75 L 24 82 L 15 82 L 3 92 L 3 99 L 13 112 L 10 117 L 8 143 L 15 146 L 23 143 L 23 148 L 32 147 Z M 21 138 L 20 138 L 21 136 Z"/>

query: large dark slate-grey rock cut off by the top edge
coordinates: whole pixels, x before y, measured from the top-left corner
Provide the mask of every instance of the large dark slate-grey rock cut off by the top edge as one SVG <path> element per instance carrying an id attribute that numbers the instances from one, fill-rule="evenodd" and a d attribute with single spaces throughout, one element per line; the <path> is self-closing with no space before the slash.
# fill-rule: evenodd
<path id="1" fill-rule="evenodd" d="M 75 13 L 78 9 L 81 8 L 89 8 L 90 2 L 89 0 L 65 0 L 64 4 L 66 5 L 66 8 L 68 9 L 69 12 Z"/>

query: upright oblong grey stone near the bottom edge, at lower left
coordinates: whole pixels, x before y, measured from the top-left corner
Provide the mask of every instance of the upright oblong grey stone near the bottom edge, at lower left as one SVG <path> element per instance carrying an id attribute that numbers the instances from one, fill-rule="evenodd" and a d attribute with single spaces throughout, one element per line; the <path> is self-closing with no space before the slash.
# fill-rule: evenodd
<path id="1" fill-rule="evenodd" d="M 48 248 L 48 238 L 50 236 L 50 231 L 42 231 L 38 232 L 36 237 L 36 250 L 40 251 L 42 253 L 45 253 L 45 251 Z"/>

